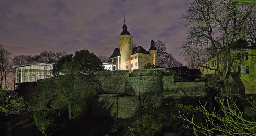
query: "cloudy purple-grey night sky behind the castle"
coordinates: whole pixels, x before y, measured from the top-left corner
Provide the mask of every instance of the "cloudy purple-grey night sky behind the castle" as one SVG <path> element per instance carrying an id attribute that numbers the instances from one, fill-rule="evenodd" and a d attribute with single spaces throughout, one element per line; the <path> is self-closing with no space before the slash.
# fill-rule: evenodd
<path id="1" fill-rule="evenodd" d="M 180 17 L 189 5 L 182 1 L 148 0 L 0 0 L 0 43 L 15 55 L 35 55 L 88 49 L 110 57 L 119 48 L 124 16 L 133 43 L 150 48 L 153 40 L 166 42 L 178 61 L 185 37 Z"/>

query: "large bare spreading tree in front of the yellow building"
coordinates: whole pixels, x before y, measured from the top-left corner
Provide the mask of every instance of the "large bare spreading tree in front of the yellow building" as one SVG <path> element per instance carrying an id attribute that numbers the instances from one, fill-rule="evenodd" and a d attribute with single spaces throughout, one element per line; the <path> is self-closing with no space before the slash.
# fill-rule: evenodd
<path id="1" fill-rule="evenodd" d="M 248 29 L 255 25 L 250 27 L 248 24 L 255 20 L 255 4 L 238 5 L 235 1 L 195 0 L 186 12 L 182 18 L 187 21 L 187 44 L 193 46 L 196 45 L 193 43 L 200 43 L 195 49 L 206 49 L 214 56 L 223 53 L 223 71 L 220 70 L 219 57 L 216 69 L 207 68 L 216 70 L 223 79 L 226 91 L 229 90 L 228 79 L 232 64 L 236 60 L 231 58 L 230 50 L 236 46 L 237 40 L 253 38 L 248 34 Z"/>

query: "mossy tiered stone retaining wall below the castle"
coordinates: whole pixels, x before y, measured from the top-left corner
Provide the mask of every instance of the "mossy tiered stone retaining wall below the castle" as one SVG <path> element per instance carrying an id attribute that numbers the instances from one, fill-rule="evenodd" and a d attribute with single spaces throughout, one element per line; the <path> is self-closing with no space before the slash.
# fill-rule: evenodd
<path id="1" fill-rule="evenodd" d="M 174 77 L 166 76 L 169 75 L 166 73 L 168 73 L 166 69 L 134 70 L 130 75 L 128 70 L 101 71 L 92 75 L 82 75 L 84 77 L 80 80 L 90 78 L 96 83 L 95 87 L 98 89 L 99 96 L 93 101 L 94 114 L 118 118 L 130 118 L 139 113 L 141 103 L 139 96 L 157 97 L 160 102 L 162 97 L 207 95 L 204 82 L 174 82 Z M 54 77 L 55 80 L 58 78 L 61 76 Z M 131 94 L 136 96 L 131 96 Z"/>

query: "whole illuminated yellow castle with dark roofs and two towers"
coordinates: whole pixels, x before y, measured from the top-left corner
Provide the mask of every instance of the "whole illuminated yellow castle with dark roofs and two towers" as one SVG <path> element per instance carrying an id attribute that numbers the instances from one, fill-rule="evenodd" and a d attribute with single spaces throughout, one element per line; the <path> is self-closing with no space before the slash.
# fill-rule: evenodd
<path id="1" fill-rule="evenodd" d="M 133 47 L 133 36 L 127 30 L 125 24 L 122 27 L 119 39 L 119 48 L 115 48 L 108 62 L 115 65 L 114 70 L 144 69 L 144 66 L 157 65 L 157 49 L 153 40 L 150 42 L 150 49 L 146 51 L 142 46 Z"/>

